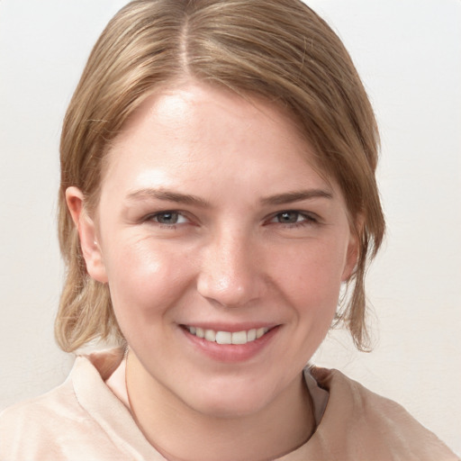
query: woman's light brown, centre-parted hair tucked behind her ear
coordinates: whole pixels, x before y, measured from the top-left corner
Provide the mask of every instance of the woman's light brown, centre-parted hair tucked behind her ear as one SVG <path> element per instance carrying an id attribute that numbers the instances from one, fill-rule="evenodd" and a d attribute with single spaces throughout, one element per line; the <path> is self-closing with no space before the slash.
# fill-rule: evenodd
<path id="1" fill-rule="evenodd" d="M 339 185 L 359 251 L 337 321 L 366 348 L 364 279 L 384 236 L 375 115 L 348 51 L 300 0 L 136 0 L 108 23 L 61 134 L 59 243 L 67 278 L 55 325 L 59 346 L 74 351 L 92 339 L 123 340 L 108 285 L 86 272 L 66 189 L 80 188 L 94 212 L 104 156 L 123 123 L 159 86 L 187 78 L 283 107 L 322 174 Z"/>

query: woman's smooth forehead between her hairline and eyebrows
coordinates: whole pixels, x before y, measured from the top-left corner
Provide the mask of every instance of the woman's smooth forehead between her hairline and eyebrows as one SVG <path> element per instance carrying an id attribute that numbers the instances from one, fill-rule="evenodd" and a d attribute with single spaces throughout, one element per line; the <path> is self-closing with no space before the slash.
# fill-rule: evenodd
<path id="1" fill-rule="evenodd" d="M 261 181 L 255 158 L 261 173 L 291 165 L 312 178 L 322 176 L 312 147 L 278 104 L 188 83 L 157 91 L 140 104 L 114 140 L 104 176 L 115 169 L 128 176 L 134 167 L 150 176 L 153 169 L 179 174 L 196 168 L 222 176 L 225 166 L 237 174 L 235 180 L 252 174 Z"/>

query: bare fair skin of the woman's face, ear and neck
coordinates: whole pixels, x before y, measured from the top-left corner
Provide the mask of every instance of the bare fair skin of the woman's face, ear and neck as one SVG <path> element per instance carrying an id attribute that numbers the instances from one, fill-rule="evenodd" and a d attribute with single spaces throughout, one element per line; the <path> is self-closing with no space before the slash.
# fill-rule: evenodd
<path id="1" fill-rule="evenodd" d="M 302 370 L 357 260 L 339 187 L 274 104 L 196 82 L 150 96 L 108 155 L 95 216 L 77 188 L 67 199 L 130 347 L 140 429 L 168 459 L 299 447 L 314 429 Z M 250 353 L 210 352 L 185 325 L 275 328 Z"/>

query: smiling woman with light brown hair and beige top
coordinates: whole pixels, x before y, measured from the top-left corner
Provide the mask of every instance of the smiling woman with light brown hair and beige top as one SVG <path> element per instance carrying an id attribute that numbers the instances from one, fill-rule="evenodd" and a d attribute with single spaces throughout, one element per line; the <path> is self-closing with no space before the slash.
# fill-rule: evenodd
<path id="1" fill-rule="evenodd" d="M 357 72 L 302 3 L 123 8 L 62 131 L 56 323 L 64 350 L 121 347 L 5 411 L 0 455 L 455 459 L 396 403 L 304 369 L 335 318 L 366 347 L 376 161 Z"/>

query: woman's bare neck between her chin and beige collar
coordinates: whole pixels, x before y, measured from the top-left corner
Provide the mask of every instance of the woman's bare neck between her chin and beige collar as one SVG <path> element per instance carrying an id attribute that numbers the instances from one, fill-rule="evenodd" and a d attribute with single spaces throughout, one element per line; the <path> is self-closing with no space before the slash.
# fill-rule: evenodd
<path id="1" fill-rule="evenodd" d="M 265 408 L 230 417 L 194 410 L 149 375 L 132 353 L 126 381 L 134 419 L 170 461 L 275 459 L 303 445 L 315 429 L 302 374 Z"/>

